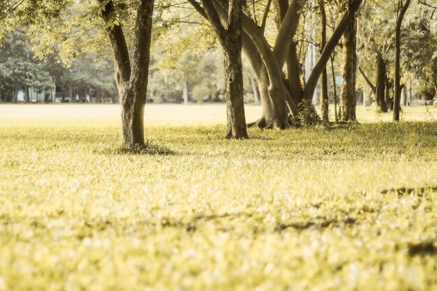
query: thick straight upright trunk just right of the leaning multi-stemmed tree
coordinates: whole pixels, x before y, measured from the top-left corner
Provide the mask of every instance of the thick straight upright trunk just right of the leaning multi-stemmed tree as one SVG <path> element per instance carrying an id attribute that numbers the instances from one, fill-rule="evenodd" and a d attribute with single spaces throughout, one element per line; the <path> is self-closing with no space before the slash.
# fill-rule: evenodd
<path id="1" fill-rule="evenodd" d="M 340 119 L 355 121 L 355 80 L 357 76 L 357 23 L 351 17 L 343 34 L 343 83 L 340 93 Z"/>

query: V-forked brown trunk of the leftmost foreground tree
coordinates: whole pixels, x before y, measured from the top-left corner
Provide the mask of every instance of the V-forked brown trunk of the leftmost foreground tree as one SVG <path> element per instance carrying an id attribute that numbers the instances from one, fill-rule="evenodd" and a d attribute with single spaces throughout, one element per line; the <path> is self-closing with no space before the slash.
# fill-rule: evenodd
<path id="1" fill-rule="evenodd" d="M 121 26 L 108 27 L 116 71 L 117 89 L 121 104 L 121 137 L 126 147 L 143 147 L 144 110 L 149 73 L 149 52 L 151 40 L 151 17 L 154 0 L 140 0 L 138 3 L 132 65 L 129 59 L 126 38 Z M 109 1 L 102 11 L 105 23 L 113 17 L 114 5 Z"/>

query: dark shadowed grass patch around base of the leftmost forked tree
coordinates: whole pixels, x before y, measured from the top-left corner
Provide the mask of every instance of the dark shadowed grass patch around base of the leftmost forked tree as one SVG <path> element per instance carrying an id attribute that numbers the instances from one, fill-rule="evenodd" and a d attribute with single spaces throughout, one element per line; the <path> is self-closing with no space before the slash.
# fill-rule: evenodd
<path id="1" fill-rule="evenodd" d="M 153 140 L 147 140 L 144 145 L 105 147 L 105 149 L 94 149 L 93 154 L 104 154 L 110 156 L 135 155 L 135 156 L 173 156 L 177 154 L 168 147 L 157 144 Z"/>

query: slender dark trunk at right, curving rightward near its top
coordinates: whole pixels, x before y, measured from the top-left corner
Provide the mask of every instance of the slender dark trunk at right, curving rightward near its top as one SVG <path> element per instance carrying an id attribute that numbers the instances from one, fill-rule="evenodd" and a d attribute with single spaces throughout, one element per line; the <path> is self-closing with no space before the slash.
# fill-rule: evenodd
<path id="1" fill-rule="evenodd" d="M 401 0 L 398 0 L 401 1 Z M 401 1 L 402 3 L 402 1 Z M 410 0 L 406 0 L 405 4 L 399 3 L 401 8 L 396 22 L 395 34 L 395 59 L 394 59 L 394 100 L 393 100 L 393 121 L 399 121 L 399 111 L 401 110 L 401 27 L 403 15 L 405 15 Z"/>

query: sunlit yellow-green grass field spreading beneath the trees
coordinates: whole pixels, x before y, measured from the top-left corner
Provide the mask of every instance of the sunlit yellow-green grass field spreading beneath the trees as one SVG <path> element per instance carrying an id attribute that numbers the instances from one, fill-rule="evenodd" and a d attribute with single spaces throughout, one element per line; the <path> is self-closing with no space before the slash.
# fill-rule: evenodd
<path id="1" fill-rule="evenodd" d="M 153 105 L 132 154 L 117 106 L 0 105 L 0 290 L 437 290 L 425 110 L 235 141 L 221 105 Z"/>

